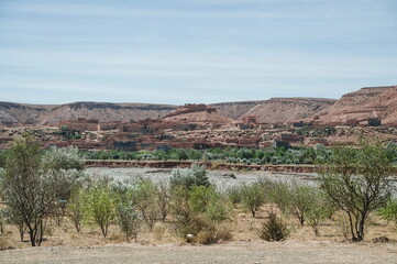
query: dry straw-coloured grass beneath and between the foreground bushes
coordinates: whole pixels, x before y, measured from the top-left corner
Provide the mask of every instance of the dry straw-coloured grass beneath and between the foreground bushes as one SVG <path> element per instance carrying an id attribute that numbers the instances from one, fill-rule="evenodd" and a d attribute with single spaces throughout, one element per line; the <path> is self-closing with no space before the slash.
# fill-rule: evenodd
<path id="1" fill-rule="evenodd" d="M 257 212 L 256 218 L 252 218 L 250 212 L 242 208 L 236 208 L 233 211 L 232 219 L 225 223 L 230 238 L 232 241 L 261 241 L 257 237 L 257 229 L 266 221 L 268 211 L 277 211 L 274 205 L 265 205 Z M 316 237 L 315 232 L 309 226 L 301 227 L 299 222 L 290 216 L 279 216 L 289 224 L 293 232 L 287 240 L 293 241 L 329 241 L 341 242 L 345 238 L 342 234 L 341 227 L 337 220 L 328 220 L 320 226 L 320 235 Z M 102 238 L 99 228 L 95 226 L 84 227 L 80 233 L 77 233 L 73 223 L 65 219 L 60 227 L 57 227 L 54 221 L 47 222 L 48 231 L 46 231 L 45 241 L 42 245 L 71 245 L 71 246 L 89 246 L 89 245 L 104 245 L 104 244 L 122 244 L 125 243 L 122 233 L 117 226 L 111 226 L 109 234 L 106 239 Z M 19 240 L 19 232 L 15 227 L 5 226 L 5 234 L 0 237 L 0 249 L 12 248 L 30 248 L 27 233 L 24 237 L 24 242 Z M 396 227 L 393 223 L 384 221 L 376 216 L 373 216 L 367 226 L 367 233 L 365 242 L 371 242 L 375 238 L 387 237 L 392 242 L 397 241 Z M 134 243 L 132 241 L 131 243 Z M 177 237 L 175 230 L 169 222 L 157 222 L 152 232 L 148 228 L 143 227 L 137 235 L 137 243 L 143 245 L 161 245 L 161 244 L 183 244 L 185 241 Z"/>

